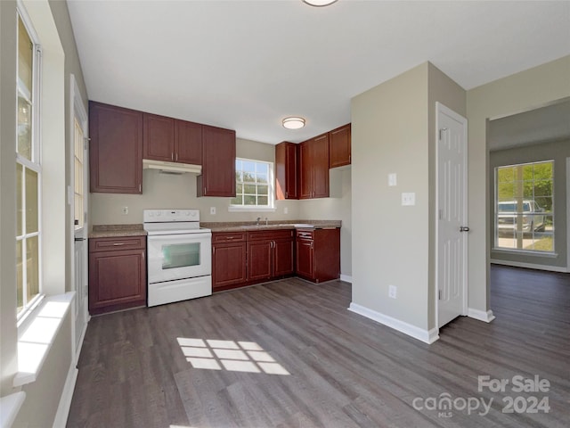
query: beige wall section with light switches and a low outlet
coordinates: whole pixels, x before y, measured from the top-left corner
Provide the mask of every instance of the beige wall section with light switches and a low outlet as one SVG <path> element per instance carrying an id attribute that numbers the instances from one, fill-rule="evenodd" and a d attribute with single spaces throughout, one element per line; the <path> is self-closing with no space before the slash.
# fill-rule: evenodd
<path id="1" fill-rule="evenodd" d="M 413 153 L 413 155 L 411 155 Z M 352 100 L 353 303 L 428 329 L 428 63 Z M 397 185 L 388 186 L 389 173 Z M 401 193 L 416 193 L 403 207 Z M 388 298 L 388 285 L 397 299 Z"/>

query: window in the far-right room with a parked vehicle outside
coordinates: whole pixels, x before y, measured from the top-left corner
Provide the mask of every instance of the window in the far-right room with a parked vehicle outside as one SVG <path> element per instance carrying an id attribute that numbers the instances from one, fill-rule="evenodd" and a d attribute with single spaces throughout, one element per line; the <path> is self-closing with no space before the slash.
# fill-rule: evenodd
<path id="1" fill-rule="evenodd" d="M 554 251 L 554 161 L 495 169 L 495 248 Z"/>

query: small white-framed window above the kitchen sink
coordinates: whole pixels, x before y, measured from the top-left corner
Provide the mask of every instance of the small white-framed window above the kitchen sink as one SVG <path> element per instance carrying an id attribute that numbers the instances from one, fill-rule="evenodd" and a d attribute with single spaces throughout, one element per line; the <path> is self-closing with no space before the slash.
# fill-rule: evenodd
<path id="1" fill-rule="evenodd" d="M 236 159 L 235 185 L 233 208 L 273 209 L 273 163 Z"/>

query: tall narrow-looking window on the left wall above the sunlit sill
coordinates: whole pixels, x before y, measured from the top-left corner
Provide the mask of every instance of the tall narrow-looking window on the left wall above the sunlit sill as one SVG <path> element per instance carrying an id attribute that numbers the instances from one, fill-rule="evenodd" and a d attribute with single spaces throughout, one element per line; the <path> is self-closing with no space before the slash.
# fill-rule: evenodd
<path id="1" fill-rule="evenodd" d="M 42 296 L 41 152 L 39 82 L 41 50 L 28 20 L 18 13 L 16 133 L 16 278 L 18 318 Z"/>

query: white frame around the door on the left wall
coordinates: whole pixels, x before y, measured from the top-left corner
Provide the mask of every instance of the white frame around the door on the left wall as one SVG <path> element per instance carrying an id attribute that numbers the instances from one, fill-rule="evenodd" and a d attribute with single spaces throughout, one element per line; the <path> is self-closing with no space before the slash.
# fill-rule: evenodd
<path id="1" fill-rule="evenodd" d="M 79 299 L 83 299 L 83 313 L 76 314 L 75 308 L 81 308 L 78 303 L 74 302 L 74 310 L 73 313 L 75 317 L 73 317 L 72 321 L 72 331 L 73 331 L 73 353 L 74 358 L 79 357 L 79 351 L 81 350 L 81 345 L 83 343 L 83 338 L 85 336 L 85 330 L 87 327 L 87 323 L 89 322 L 89 311 L 88 311 L 88 296 L 80 296 L 79 292 L 77 292 L 77 284 L 75 284 L 75 238 L 76 238 L 76 229 L 74 224 L 74 211 L 75 211 L 75 118 L 80 122 L 81 128 L 83 130 L 84 141 L 88 141 L 89 139 L 89 119 L 87 116 L 87 112 L 85 111 L 85 104 L 83 103 L 83 99 L 81 97 L 81 92 L 79 91 L 79 87 L 77 86 L 77 80 L 75 75 L 71 73 L 69 75 L 69 185 L 68 185 L 68 205 L 69 205 L 69 258 L 70 258 L 70 265 L 71 265 L 71 272 L 70 272 L 70 280 L 73 284 L 72 291 L 76 292 L 75 298 L 77 301 Z M 85 140 L 86 139 L 86 140 Z M 84 277 L 83 281 L 85 284 L 86 289 L 88 290 L 88 251 L 87 251 L 87 216 L 86 213 L 88 212 L 88 194 L 89 194 L 89 185 L 88 185 L 88 170 L 87 166 L 89 165 L 89 150 L 86 144 L 84 144 L 84 171 L 83 171 L 83 186 L 84 186 L 84 226 L 81 230 L 80 237 L 85 238 L 85 251 L 83 254 L 84 257 Z M 76 332 L 76 319 L 77 317 L 83 317 L 85 326 L 82 332 Z M 77 335 L 80 336 L 79 338 L 79 345 L 76 347 L 77 343 Z"/>

